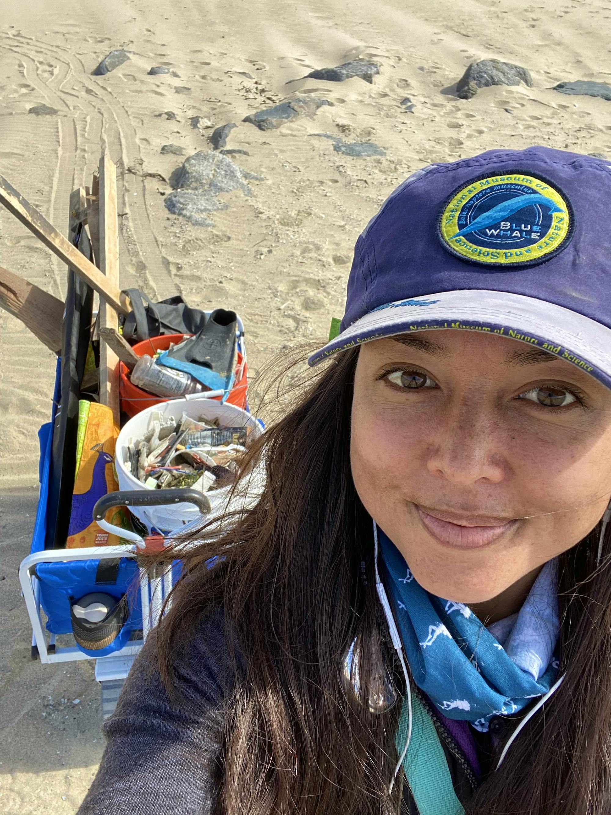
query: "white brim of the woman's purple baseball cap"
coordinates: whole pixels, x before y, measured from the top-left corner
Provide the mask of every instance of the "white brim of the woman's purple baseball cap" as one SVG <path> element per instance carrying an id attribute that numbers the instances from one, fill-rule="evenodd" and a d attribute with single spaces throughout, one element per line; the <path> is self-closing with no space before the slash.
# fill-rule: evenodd
<path id="1" fill-rule="evenodd" d="M 411 297 L 370 311 L 310 356 L 316 365 L 363 342 L 437 328 L 481 331 L 555 354 L 611 388 L 611 328 L 564 306 L 487 289 Z"/>

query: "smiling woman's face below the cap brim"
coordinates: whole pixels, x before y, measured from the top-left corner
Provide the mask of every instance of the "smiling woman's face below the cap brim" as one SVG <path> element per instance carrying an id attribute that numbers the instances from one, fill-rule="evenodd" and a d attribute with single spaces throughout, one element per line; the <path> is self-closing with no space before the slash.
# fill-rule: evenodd
<path id="1" fill-rule="evenodd" d="M 611 392 L 506 337 L 371 341 L 359 350 L 350 455 L 358 495 L 420 585 L 484 602 L 600 520 Z"/>

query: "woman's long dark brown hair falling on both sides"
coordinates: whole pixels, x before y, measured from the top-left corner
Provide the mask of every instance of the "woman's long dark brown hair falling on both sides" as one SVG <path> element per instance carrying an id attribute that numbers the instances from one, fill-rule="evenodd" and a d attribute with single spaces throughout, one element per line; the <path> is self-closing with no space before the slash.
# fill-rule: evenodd
<path id="1" fill-rule="evenodd" d="M 170 694 L 175 648 L 224 610 L 235 671 L 219 791 L 226 815 L 400 811 L 402 784 L 388 792 L 400 703 L 382 713 L 367 705 L 393 657 L 371 575 L 371 520 L 349 465 L 357 359 L 354 349 L 325 363 L 253 445 L 243 481 L 264 465 L 257 504 L 162 556 L 181 557 L 184 575 L 157 634 Z M 596 569 L 596 544 L 593 531 L 560 556 L 565 681 L 469 815 L 611 812 L 611 580 L 604 562 Z M 355 640 L 359 694 L 341 670 Z M 402 694 L 396 669 L 393 678 Z"/>

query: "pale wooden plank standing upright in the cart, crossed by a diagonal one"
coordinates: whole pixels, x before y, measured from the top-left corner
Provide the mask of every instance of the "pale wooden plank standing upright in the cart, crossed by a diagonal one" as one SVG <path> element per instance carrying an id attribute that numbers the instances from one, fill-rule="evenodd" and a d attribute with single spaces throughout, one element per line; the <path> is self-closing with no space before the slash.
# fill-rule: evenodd
<path id="1" fill-rule="evenodd" d="M 99 269 L 108 283 L 119 288 L 119 217 L 116 211 L 116 167 L 108 153 L 99 160 Z M 99 332 L 111 328 L 118 333 L 119 319 L 100 299 Z M 119 358 L 104 339 L 99 343 L 99 401 L 112 408 L 117 427 L 119 411 Z"/>

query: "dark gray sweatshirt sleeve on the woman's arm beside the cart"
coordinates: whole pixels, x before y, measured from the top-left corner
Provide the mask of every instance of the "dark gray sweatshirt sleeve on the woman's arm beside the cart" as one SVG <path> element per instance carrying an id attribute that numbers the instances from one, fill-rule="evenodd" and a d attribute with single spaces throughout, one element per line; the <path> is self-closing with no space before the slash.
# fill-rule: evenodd
<path id="1" fill-rule="evenodd" d="M 212 815 L 221 768 L 223 699 L 231 690 L 220 612 L 177 654 L 172 703 L 155 660 L 155 632 L 103 725 L 102 761 L 77 815 Z"/>

